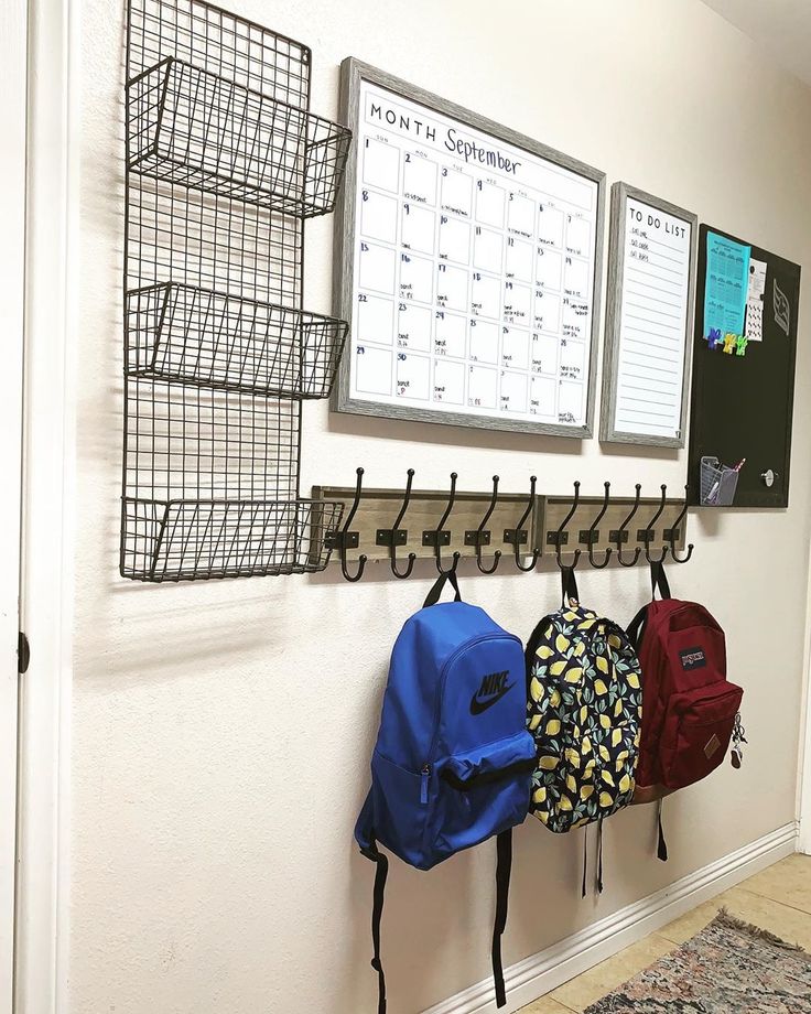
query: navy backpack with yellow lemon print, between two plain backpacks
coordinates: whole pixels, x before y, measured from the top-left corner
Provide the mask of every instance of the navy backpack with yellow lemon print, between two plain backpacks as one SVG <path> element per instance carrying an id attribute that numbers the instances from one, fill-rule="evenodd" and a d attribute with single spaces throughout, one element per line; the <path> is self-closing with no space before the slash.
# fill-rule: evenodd
<path id="1" fill-rule="evenodd" d="M 562 568 L 562 583 L 561 608 L 538 624 L 525 654 L 537 749 L 530 813 L 556 832 L 630 803 L 642 711 L 628 635 L 580 605 L 571 567 Z"/>

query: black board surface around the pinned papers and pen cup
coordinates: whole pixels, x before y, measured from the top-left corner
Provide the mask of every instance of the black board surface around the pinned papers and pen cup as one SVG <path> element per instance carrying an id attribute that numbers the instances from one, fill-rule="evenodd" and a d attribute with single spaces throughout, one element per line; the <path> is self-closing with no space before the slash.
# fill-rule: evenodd
<path id="1" fill-rule="evenodd" d="M 717 457 L 731 467 L 745 457 L 733 507 L 787 507 L 800 267 L 751 245 L 753 259 L 767 265 L 763 342 L 749 342 L 744 356 L 711 349 L 704 334 L 709 231 L 746 244 L 721 229 L 701 226 L 690 411 L 690 503 L 701 505 L 702 457 Z M 788 335 L 776 315 L 775 282 L 778 301 L 780 293 L 788 300 Z M 771 486 L 764 478 L 769 470 L 776 473 Z"/>

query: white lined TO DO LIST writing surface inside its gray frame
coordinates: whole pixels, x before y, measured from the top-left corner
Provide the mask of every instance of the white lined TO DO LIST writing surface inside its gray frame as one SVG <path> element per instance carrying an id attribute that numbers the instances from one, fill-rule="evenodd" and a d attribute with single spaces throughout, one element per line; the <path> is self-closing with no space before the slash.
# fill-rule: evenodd
<path id="1" fill-rule="evenodd" d="M 682 439 L 692 223 L 628 197 L 614 431 Z"/>

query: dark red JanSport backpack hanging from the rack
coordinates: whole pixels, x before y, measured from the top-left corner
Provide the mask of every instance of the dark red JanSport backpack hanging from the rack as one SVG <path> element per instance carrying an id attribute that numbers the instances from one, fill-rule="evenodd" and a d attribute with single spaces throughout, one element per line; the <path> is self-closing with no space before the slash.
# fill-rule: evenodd
<path id="1" fill-rule="evenodd" d="M 635 803 L 661 799 L 714 770 L 726 755 L 744 695 L 726 678 L 718 623 L 703 605 L 670 597 L 661 563 L 651 563 L 650 574 L 653 600 L 628 627 L 642 670 Z M 660 838 L 660 859 L 662 851 L 667 854 Z"/>

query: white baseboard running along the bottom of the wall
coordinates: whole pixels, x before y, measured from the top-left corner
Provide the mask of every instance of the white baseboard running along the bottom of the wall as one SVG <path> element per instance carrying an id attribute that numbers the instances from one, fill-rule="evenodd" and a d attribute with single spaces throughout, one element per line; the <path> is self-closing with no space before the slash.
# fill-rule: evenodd
<path id="1" fill-rule="evenodd" d="M 509 1014 L 543 996 L 574 975 L 678 919 L 702 902 L 735 886 L 771 863 L 791 855 L 796 844 L 797 824 L 792 822 L 744 845 L 737 852 L 731 852 L 709 866 L 683 876 L 640 902 L 626 905 L 625 908 L 572 934 L 559 943 L 525 958 L 505 971 L 508 995 L 507 1006 L 501 1007 L 501 1011 Z M 493 980 L 485 979 L 455 996 L 443 1000 L 423 1014 L 494 1012 L 496 1002 L 493 995 Z"/>

